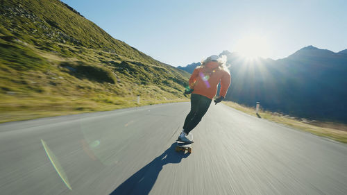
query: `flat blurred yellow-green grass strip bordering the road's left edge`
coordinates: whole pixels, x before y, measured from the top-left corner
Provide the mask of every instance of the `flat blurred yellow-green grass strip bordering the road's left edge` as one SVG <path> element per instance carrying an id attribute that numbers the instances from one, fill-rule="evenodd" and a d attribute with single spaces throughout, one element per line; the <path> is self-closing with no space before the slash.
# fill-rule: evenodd
<path id="1" fill-rule="evenodd" d="M 105 95 L 94 97 L 0 95 L 0 99 L 0 123 L 187 101 L 187 99 L 153 99 L 142 96 L 137 103 L 137 96 Z"/>

